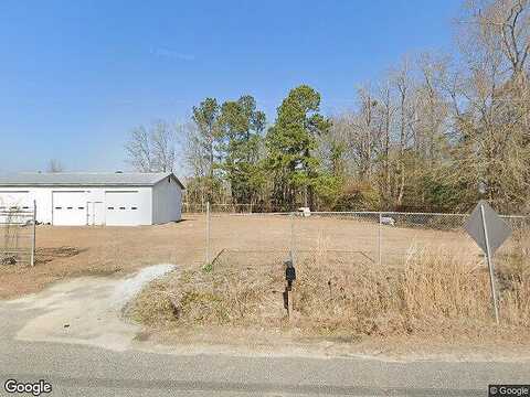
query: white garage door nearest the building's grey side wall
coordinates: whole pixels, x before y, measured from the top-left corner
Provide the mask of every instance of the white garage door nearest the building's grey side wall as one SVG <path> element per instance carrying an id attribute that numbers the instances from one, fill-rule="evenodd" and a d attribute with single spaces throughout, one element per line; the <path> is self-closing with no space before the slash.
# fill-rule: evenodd
<path id="1" fill-rule="evenodd" d="M 105 224 L 135 226 L 141 224 L 138 191 L 105 192 Z"/>

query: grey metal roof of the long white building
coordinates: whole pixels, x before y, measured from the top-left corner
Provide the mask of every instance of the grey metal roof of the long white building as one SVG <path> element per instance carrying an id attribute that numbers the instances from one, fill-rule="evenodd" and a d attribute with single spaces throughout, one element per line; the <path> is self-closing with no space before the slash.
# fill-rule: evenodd
<path id="1" fill-rule="evenodd" d="M 19 172 L 0 173 L 0 186 L 153 186 L 172 172 Z"/>

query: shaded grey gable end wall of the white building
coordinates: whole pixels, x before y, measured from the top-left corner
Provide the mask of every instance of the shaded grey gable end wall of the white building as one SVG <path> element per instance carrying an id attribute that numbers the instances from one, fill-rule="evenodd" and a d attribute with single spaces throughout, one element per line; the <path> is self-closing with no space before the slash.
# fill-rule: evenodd
<path id="1" fill-rule="evenodd" d="M 181 206 L 182 189 L 173 179 L 166 178 L 152 187 L 153 224 L 180 221 Z"/>

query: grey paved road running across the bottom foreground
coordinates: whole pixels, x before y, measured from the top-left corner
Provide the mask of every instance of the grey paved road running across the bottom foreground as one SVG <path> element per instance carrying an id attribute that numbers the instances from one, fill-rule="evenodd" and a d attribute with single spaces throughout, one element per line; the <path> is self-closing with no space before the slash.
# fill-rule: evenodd
<path id="1" fill-rule="evenodd" d="M 0 395 L 7 395 L 3 383 L 9 378 L 46 379 L 53 386 L 53 396 L 88 397 L 487 396 L 487 385 L 491 383 L 530 383 L 530 363 L 398 363 L 361 358 L 176 355 L 130 347 L 117 352 L 77 343 L 17 339 L 20 330 L 28 328 L 31 321 L 35 326 L 30 334 L 34 335 L 42 324 L 34 319 L 53 307 L 61 307 L 59 300 L 51 297 L 62 293 L 75 302 L 77 296 L 77 292 L 65 292 L 64 289 L 52 292 L 36 299 L 41 305 L 0 302 Z M 61 309 L 60 312 L 66 315 L 71 309 Z M 85 307 L 87 312 L 94 310 Z M 54 318 L 49 315 L 45 319 Z M 49 330 L 43 328 L 42 332 Z M 85 333 L 92 332 L 93 329 L 88 328 Z"/>

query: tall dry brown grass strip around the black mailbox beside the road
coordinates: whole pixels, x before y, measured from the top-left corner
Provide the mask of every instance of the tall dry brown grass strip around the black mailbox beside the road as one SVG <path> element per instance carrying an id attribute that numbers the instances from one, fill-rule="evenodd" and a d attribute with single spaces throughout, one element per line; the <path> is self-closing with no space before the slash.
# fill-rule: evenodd
<path id="1" fill-rule="evenodd" d="M 487 267 L 475 254 L 423 249 L 401 267 L 379 267 L 328 250 L 325 236 L 298 257 L 290 322 L 282 300 L 286 253 L 226 251 L 212 271 L 186 270 L 151 285 L 129 314 L 166 329 L 230 325 L 350 339 L 521 340 L 530 325 L 530 272 L 522 254 L 498 260 L 500 326 L 492 318 Z"/>

